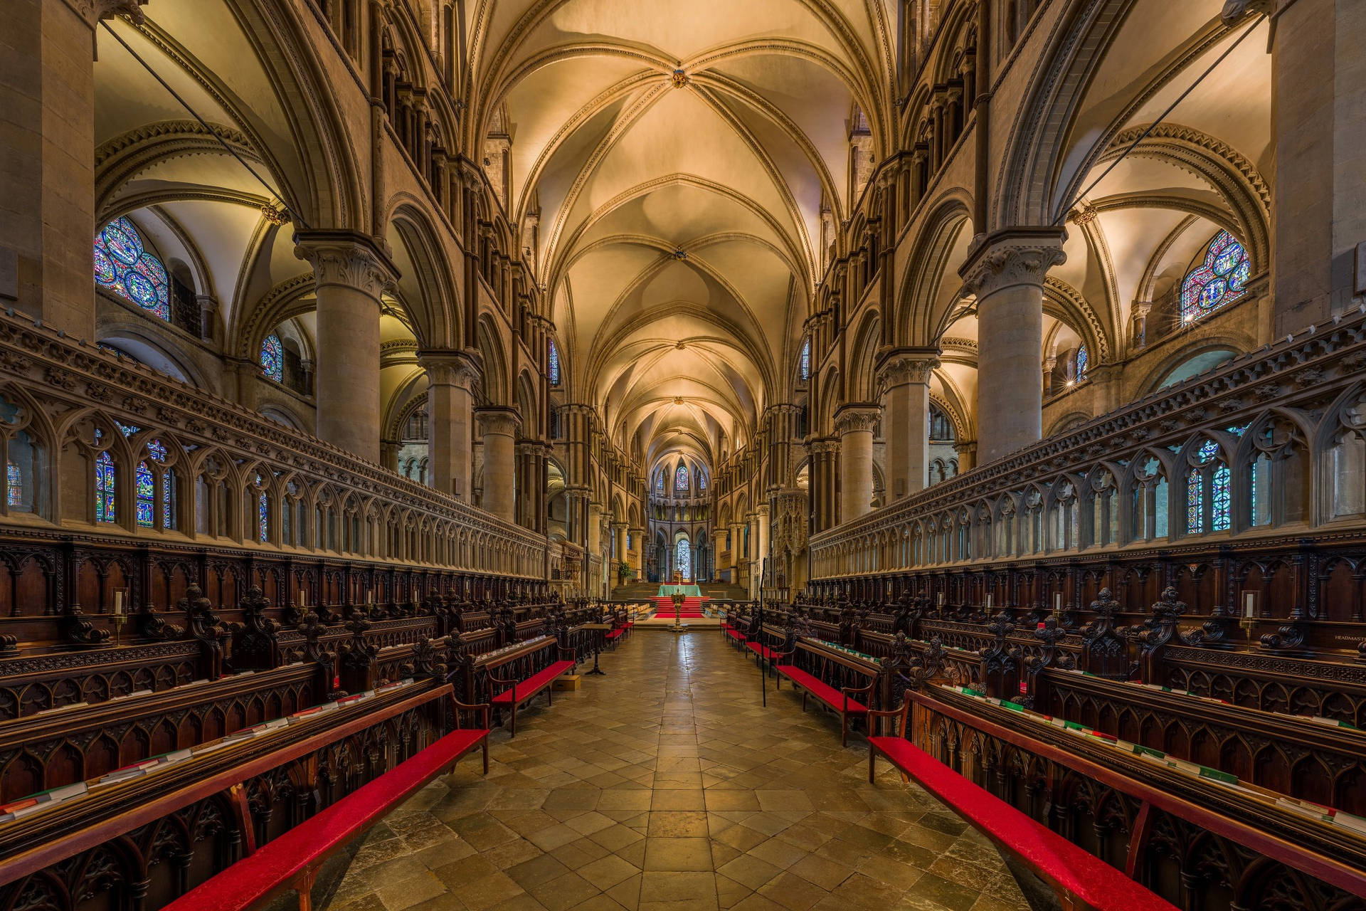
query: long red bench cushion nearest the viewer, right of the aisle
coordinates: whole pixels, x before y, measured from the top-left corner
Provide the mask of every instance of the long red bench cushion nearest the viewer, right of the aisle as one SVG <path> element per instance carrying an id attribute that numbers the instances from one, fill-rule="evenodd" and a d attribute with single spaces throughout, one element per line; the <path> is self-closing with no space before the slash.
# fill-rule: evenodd
<path id="1" fill-rule="evenodd" d="M 1089 851 L 992 796 L 904 738 L 869 738 L 892 765 L 1037 873 L 1100 911 L 1176 911 Z"/>

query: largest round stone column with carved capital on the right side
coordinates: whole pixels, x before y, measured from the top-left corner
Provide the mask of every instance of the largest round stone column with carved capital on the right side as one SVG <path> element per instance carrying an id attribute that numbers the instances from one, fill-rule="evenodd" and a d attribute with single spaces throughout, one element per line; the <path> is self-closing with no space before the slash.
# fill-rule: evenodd
<path id="1" fill-rule="evenodd" d="M 1007 228 L 959 268 L 977 295 L 977 426 L 982 463 L 1037 443 L 1044 422 L 1044 279 L 1063 262 L 1061 228 Z"/>

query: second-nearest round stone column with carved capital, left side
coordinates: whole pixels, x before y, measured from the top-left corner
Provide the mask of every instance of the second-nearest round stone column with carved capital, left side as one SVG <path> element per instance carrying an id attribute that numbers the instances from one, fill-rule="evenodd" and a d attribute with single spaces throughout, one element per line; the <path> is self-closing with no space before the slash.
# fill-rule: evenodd
<path id="1" fill-rule="evenodd" d="M 441 493 L 469 501 L 478 365 L 463 351 L 419 351 L 418 365 L 428 374 L 430 483 Z"/>

